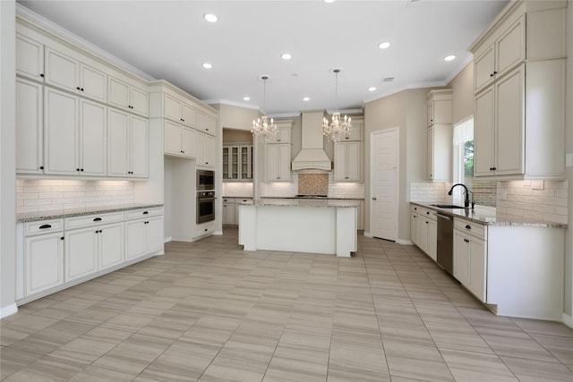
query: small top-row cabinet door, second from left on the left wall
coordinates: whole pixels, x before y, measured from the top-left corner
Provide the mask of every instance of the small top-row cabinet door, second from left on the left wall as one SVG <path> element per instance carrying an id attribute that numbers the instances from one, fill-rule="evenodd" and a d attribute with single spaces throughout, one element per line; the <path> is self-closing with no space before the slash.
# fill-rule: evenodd
<path id="1" fill-rule="evenodd" d="M 54 48 L 46 47 L 46 83 L 77 91 L 80 63 Z"/>

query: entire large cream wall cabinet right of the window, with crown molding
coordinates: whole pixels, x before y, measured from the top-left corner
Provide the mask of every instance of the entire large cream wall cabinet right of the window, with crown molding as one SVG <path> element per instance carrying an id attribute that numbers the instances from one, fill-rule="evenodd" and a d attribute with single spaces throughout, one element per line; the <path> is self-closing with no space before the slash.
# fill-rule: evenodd
<path id="1" fill-rule="evenodd" d="M 565 6 L 510 4 L 470 47 L 476 177 L 564 177 Z"/>

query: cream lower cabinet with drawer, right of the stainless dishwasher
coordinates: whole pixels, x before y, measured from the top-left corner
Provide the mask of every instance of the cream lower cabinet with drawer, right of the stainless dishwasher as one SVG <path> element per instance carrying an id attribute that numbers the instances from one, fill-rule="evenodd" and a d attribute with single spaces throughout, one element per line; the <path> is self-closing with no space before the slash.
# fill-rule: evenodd
<path id="1" fill-rule="evenodd" d="M 485 302 L 487 242 L 484 238 L 487 228 L 458 219 L 454 225 L 454 277 Z"/>

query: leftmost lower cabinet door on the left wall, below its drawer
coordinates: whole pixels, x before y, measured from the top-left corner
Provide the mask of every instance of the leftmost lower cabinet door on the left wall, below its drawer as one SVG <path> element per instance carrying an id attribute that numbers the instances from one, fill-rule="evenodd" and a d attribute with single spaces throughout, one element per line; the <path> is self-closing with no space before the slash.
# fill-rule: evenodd
<path id="1" fill-rule="evenodd" d="M 63 237 L 56 232 L 25 238 L 26 296 L 64 284 Z"/>

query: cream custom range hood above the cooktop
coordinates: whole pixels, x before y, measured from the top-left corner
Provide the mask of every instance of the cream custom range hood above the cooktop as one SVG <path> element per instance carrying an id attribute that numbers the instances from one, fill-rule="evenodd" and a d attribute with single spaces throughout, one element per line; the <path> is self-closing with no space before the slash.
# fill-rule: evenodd
<path id="1" fill-rule="evenodd" d="M 293 160 L 293 170 L 330 171 L 332 163 L 322 149 L 322 118 L 324 110 L 302 113 L 303 148 Z"/>

